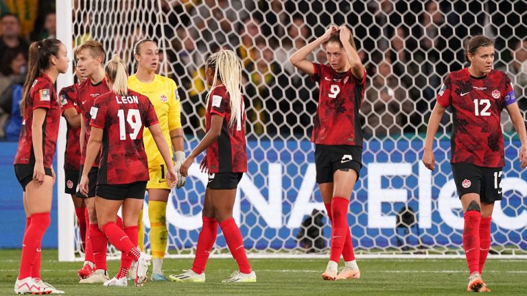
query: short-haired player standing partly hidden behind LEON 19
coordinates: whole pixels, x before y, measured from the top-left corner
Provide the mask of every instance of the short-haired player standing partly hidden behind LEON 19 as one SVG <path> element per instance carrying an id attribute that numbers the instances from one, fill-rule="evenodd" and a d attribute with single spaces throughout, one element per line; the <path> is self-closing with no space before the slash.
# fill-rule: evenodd
<path id="1" fill-rule="evenodd" d="M 80 45 L 75 51 L 77 58 L 77 68 L 82 77 L 87 77 L 86 81 L 80 84 L 77 90 L 78 108 L 80 110 L 80 174 L 82 174 L 82 165 L 86 158 L 86 143 L 91 133 L 91 107 L 95 98 L 110 89 L 104 79 L 104 58 L 106 53 L 101 42 L 89 40 Z M 108 272 L 106 267 L 106 238 L 99 230 L 97 223 L 97 212 L 95 211 L 95 183 L 97 182 L 97 171 L 99 169 L 99 158 L 93 163 L 90 177 L 90 190 L 88 193 L 77 193 L 78 196 L 84 197 L 84 203 L 88 208 L 89 222 L 86 232 L 86 252 L 82 269 L 78 271 L 80 284 L 104 283 L 108 281 Z"/>

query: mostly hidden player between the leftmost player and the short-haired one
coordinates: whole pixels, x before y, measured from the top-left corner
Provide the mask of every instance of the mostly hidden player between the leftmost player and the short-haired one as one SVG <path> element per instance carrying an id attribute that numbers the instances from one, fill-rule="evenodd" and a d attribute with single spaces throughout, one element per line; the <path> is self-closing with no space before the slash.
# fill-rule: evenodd
<path id="1" fill-rule="evenodd" d="M 78 82 L 62 88 L 58 93 L 62 116 L 66 119 L 67 136 L 66 151 L 64 153 L 65 193 L 71 195 L 75 214 L 77 215 L 82 250 L 86 252 L 86 225 L 89 225 L 88 210 L 82 197 L 78 197 L 77 185 L 79 184 L 80 170 L 80 112 L 77 108 L 77 89 L 87 79 L 82 77 L 79 69 L 75 67 Z M 90 246 L 91 247 L 91 246 Z"/>

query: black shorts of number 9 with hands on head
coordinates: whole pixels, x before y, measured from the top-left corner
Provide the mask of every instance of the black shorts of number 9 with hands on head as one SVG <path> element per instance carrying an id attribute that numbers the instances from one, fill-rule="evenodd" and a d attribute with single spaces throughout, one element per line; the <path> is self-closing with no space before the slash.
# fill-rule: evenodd
<path id="1" fill-rule="evenodd" d="M 360 175 L 362 147 L 350 145 L 315 145 L 316 182 L 333 182 L 333 173 L 352 169 Z"/>

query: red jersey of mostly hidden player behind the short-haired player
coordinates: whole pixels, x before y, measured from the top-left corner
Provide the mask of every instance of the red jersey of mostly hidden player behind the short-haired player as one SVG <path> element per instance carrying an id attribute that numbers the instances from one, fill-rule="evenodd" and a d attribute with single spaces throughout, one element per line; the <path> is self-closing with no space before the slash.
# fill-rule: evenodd
<path id="1" fill-rule="evenodd" d="M 69 108 L 74 108 L 75 112 L 79 113 L 77 107 L 77 88 L 80 84 L 73 84 L 66 86 L 58 92 L 60 107 L 62 108 L 62 116 L 64 111 Z M 64 152 L 64 169 L 66 170 L 80 170 L 80 127 L 72 127 L 68 121 L 66 134 L 66 151 Z"/>

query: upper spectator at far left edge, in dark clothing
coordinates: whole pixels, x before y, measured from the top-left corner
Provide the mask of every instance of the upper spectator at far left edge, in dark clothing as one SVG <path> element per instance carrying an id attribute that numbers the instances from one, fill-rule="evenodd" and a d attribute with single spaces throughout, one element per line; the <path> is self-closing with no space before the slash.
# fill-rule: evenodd
<path id="1" fill-rule="evenodd" d="M 4 14 L 1 18 L 1 36 L 0 36 L 0 57 L 5 53 L 5 50 L 20 49 L 27 57 L 27 52 L 30 45 L 20 36 L 21 27 L 19 18 L 14 14 Z"/>

